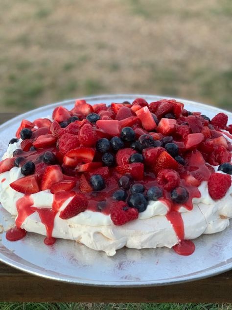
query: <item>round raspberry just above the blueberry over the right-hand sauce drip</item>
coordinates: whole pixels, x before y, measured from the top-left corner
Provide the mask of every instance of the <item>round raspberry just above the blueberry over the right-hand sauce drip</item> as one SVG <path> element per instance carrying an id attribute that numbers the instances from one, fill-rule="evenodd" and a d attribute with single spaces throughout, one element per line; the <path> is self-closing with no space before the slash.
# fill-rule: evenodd
<path id="1" fill-rule="evenodd" d="M 180 185 L 180 175 L 175 170 L 163 169 L 158 173 L 157 182 L 164 189 L 171 191 Z"/>

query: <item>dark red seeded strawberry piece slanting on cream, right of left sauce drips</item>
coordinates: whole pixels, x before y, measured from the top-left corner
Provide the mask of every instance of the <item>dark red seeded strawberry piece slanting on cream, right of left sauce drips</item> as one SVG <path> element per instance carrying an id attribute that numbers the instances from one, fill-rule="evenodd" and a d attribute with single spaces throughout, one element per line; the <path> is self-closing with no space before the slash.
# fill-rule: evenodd
<path id="1" fill-rule="evenodd" d="M 88 200 L 85 195 L 77 193 L 65 209 L 60 212 L 60 218 L 62 218 L 62 220 L 68 220 L 69 218 L 84 212 L 87 206 Z"/>

